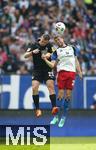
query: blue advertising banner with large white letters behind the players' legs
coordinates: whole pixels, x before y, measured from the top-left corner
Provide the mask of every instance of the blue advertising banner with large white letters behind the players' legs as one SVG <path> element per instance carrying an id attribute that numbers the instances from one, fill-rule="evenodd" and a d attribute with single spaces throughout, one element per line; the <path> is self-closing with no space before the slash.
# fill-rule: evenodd
<path id="1" fill-rule="evenodd" d="M 33 109 L 30 75 L 2 75 L 0 86 L 1 109 Z M 72 108 L 93 108 L 96 101 L 96 77 L 87 76 L 81 81 L 78 77 L 72 95 Z M 58 93 L 55 84 L 56 94 Z M 45 84 L 39 87 L 40 105 L 51 109 L 49 92 Z"/>

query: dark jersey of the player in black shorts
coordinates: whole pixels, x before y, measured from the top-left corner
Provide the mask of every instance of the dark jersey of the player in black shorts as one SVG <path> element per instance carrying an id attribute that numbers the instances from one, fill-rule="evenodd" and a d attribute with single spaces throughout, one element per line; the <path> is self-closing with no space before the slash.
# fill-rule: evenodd
<path id="1" fill-rule="evenodd" d="M 33 64 L 34 64 L 34 70 L 45 70 L 45 71 L 51 71 L 52 69 L 46 64 L 46 62 L 41 58 L 42 54 L 52 53 L 52 45 L 51 43 L 48 43 L 46 46 L 41 46 L 39 42 L 35 42 L 33 44 L 30 44 L 28 46 L 28 49 L 30 48 L 30 51 L 33 51 L 35 49 L 39 49 L 39 53 L 32 54 L 33 56 Z M 49 58 L 51 60 L 51 58 Z"/>

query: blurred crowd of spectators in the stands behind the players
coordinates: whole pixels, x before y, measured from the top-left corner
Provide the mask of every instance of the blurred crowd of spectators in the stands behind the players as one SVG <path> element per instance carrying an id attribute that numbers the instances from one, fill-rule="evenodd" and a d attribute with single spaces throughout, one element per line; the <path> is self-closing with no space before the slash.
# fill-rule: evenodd
<path id="1" fill-rule="evenodd" d="M 96 75 L 96 0 L 0 0 L 0 74 L 32 73 L 27 45 L 52 35 L 58 21 L 66 25 L 66 43 L 78 47 L 83 74 Z"/>

